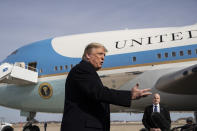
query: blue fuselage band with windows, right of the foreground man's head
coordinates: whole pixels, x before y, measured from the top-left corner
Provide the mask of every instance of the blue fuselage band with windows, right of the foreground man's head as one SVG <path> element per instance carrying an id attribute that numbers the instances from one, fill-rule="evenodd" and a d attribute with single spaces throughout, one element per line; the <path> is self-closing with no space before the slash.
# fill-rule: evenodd
<path id="1" fill-rule="evenodd" d="M 188 55 L 188 50 L 191 50 L 191 55 Z M 183 56 L 180 56 L 180 51 L 183 51 Z M 172 56 L 172 52 L 176 52 L 175 57 Z M 168 53 L 168 57 L 164 56 L 165 53 Z M 160 59 L 158 58 L 157 54 L 161 54 Z M 132 61 L 133 57 L 136 57 L 135 62 Z M 106 57 L 105 64 L 103 67 L 128 66 L 136 64 L 182 60 L 189 58 L 197 58 L 197 44 L 171 48 L 162 48 L 149 51 L 140 51 L 134 53 L 125 53 L 119 55 L 111 55 Z"/>

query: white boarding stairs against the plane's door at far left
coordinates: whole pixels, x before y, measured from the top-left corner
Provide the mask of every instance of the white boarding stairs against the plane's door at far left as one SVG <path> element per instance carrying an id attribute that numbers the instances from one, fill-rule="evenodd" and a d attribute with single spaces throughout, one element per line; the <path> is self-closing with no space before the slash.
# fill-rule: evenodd
<path id="1" fill-rule="evenodd" d="M 2 63 L 0 65 L 0 83 L 26 85 L 37 82 L 37 69 L 26 66 L 24 62 Z"/>

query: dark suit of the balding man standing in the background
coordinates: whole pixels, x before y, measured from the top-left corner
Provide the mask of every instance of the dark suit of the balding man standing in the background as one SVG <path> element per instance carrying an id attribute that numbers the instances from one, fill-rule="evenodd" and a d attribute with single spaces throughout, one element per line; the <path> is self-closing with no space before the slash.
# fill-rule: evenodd
<path id="1" fill-rule="evenodd" d="M 171 125 L 170 113 L 162 105 L 160 105 L 160 113 L 153 112 L 153 105 L 147 106 L 144 111 L 142 122 L 148 130 L 150 128 L 160 128 L 169 130 Z"/>

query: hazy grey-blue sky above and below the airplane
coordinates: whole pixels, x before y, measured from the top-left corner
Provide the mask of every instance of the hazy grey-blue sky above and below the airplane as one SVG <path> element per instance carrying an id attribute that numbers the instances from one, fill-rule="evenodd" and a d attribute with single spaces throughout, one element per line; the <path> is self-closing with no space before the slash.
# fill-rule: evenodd
<path id="1" fill-rule="evenodd" d="M 0 61 L 56 36 L 195 24 L 196 7 L 197 0 L 0 0 Z M 19 111 L 3 107 L 0 116 L 20 119 Z"/>

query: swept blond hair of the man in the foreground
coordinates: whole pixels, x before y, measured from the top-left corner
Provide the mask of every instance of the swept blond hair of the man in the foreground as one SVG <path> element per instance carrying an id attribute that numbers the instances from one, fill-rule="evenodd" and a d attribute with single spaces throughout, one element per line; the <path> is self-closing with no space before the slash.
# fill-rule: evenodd
<path id="1" fill-rule="evenodd" d="M 94 48 L 103 48 L 105 50 L 105 52 L 107 52 L 107 49 L 105 48 L 104 45 L 102 45 L 100 43 L 93 42 L 93 43 L 90 43 L 86 46 L 83 56 L 82 56 L 82 59 L 87 60 L 86 54 L 90 54 L 92 49 L 94 49 Z"/>

